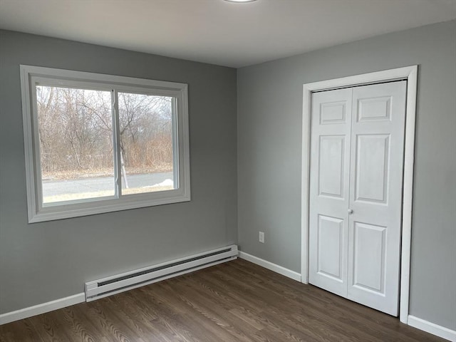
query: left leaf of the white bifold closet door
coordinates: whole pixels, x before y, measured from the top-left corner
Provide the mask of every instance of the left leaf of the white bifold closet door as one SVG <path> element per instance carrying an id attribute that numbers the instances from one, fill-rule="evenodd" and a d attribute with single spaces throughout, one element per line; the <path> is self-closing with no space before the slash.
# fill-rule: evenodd
<path id="1" fill-rule="evenodd" d="M 309 282 L 347 296 L 352 89 L 312 95 Z"/>

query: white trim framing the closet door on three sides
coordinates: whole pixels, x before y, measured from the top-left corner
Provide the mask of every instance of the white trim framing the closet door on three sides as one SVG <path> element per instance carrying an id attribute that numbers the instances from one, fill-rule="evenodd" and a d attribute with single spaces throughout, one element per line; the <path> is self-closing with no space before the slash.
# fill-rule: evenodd
<path id="1" fill-rule="evenodd" d="M 301 165 L 301 282 L 309 281 L 309 179 L 311 139 L 311 96 L 313 92 L 362 86 L 385 81 L 407 80 L 405 109 L 402 244 L 400 254 L 399 319 L 407 323 L 410 296 L 410 244 L 412 231 L 413 162 L 415 157 L 415 117 L 418 66 L 405 66 L 374 73 L 335 78 L 303 85 L 302 165 Z"/>

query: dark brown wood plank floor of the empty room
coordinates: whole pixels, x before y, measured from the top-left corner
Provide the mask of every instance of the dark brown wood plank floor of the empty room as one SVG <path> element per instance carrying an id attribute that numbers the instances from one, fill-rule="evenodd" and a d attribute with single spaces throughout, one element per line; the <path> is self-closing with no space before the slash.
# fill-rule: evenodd
<path id="1" fill-rule="evenodd" d="M 244 260 L 0 326 L 0 341 L 445 341 Z"/>

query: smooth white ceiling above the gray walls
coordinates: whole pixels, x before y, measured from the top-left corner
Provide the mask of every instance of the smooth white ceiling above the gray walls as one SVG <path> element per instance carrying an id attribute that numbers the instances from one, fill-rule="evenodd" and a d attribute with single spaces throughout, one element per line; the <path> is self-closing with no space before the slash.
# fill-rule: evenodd
<path id="1" fill-rule="evenodd" d="M 456 0 L 0 0 L 0 28 L 235 68 L 455 18 Z"/>

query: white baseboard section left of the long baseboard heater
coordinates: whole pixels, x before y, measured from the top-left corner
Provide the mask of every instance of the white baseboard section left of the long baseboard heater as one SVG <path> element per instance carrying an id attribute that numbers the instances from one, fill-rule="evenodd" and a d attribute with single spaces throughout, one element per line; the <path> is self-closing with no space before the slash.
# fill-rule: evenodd
<path id="1" fill-rule="evenodd" d="M 56 299 L 55 301 L 48 301 L 47 303 L 30 306 L 25 309 L 7 312 L 0 315 L 0 326 L 2 324 L 19 321 L 20 319 L 28 318 L 31 316 L 41 315 L 49 311 L 65 308 L 74 304 L 83 303 L 86 301 L 86 294 L 74 294 L 66 298 Z"/>

